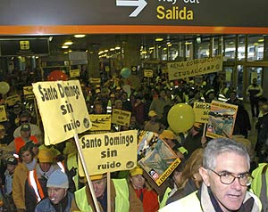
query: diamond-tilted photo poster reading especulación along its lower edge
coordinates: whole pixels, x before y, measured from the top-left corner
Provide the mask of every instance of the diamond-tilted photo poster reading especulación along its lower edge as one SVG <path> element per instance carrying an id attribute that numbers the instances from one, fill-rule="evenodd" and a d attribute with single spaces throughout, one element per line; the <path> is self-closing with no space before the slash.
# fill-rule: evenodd
<path id="1" fill-rule="evenodd" d="M 138 164 L 160 186 L 179 166 L 180 159 L 157 134 L 141 131 L 138 135 Z"/>

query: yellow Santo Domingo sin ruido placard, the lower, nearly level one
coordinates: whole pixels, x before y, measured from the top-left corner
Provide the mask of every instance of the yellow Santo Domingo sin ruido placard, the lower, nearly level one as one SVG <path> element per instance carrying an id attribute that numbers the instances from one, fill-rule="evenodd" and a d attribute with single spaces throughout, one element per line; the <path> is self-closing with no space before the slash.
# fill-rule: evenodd
<path id="1" fill-rule="evenodd" d="M 80 146 L 89 175 L 129 170 L 137 164 L 136 130 L 101 135 L 85 135 Z M 83 169 L 79 166 L 79 174 Z"/>

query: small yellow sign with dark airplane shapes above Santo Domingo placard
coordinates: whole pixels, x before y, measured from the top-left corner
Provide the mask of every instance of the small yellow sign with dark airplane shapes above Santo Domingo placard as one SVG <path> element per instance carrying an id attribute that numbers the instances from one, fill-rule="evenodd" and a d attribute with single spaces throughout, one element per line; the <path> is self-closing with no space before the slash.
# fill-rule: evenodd
<path id="1" fill-rule="evenodd" d="M 111 130 L 111 114 L 90 114 L 90 131 Z"/>

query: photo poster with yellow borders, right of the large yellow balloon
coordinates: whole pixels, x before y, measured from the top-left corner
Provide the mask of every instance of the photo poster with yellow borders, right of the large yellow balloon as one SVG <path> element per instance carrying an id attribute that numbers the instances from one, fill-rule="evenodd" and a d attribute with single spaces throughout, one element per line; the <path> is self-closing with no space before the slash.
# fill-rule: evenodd
<path id="1" fill-rule="evenodd" d="M 205 135 L 212 138 L 230 138 L 236 121 L 238 106 L 218 101 L 211 102 L 210 106 Z"/>

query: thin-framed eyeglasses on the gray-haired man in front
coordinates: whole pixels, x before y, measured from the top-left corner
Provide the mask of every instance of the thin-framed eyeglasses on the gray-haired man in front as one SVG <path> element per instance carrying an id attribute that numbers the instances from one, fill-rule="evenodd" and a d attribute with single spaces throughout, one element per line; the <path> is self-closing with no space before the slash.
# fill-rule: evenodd
<path id="1" fill-rule="evenodd" d="M 238 176 L 235 176 L 234 174 L 223 171 L 222 173 L 217 173 L 213 169 L 208 168 L 209 170 L 213 171 L 214 174 L 220 176 L 220 180 L 223 184 L 231 184 L 235 181 L 236 178 L 239 179 L 239 184 L 241 186 L 248 186 L 252 183 L 252 180 L 254 179 L 252 175 L 249 173 L 240 174 Z"/>

